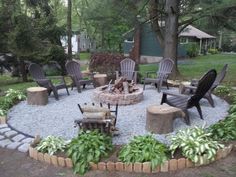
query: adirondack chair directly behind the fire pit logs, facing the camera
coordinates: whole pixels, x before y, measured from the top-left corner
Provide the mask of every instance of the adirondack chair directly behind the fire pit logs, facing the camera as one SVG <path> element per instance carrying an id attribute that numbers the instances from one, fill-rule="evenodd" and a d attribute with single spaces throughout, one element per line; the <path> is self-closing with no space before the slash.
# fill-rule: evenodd
<path id="1" fill-rule="evenodd" d="M 128 81 L 137 82 L 137 71 L 135 71 L 135 62 L 130 58 L 125 58 L 120 62 L 120 71 L 116 71 L 116 80 L 124 77 Z"/>

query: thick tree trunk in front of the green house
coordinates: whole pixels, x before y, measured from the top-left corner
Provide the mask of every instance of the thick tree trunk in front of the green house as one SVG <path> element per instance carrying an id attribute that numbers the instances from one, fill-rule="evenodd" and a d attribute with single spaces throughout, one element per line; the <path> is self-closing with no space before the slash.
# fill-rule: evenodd
<path id="1" fill-rule="evenodd" d="M 180 0 L 166 0 L 165 11 L 165 40 L 164 40 L 164 58 L 171 58 L 174 61 L 172 76 L 175 78 L 178 74 L 177 50 L 178 50 L 178 17 Z"/>

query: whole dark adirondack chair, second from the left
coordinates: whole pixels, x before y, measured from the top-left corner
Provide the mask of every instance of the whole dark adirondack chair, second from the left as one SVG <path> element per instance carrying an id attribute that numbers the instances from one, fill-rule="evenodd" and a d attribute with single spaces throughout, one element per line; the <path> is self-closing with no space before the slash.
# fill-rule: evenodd
<path id="1" fill-rule="evenodd" d="M 73 87 L 76 86 L 78 92 L 80 93 L 81 85 L 83 85 L 83 88 L 85 88 L 86 85 L 93 84 L 92 79 L 83 79 L 82 73 L 80 71 L 80 64 L 76 61 L 67 61 L 66 71 L 72 80 L 71 90 L 73 90 Z"/>

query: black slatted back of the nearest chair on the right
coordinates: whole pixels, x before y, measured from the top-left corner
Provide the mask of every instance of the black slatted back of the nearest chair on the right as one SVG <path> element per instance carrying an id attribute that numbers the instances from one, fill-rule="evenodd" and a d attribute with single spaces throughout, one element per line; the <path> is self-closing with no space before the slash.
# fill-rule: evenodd
<path id="1" fill-rule="evenodd" d="M 216 70 L 211 69 L 199 80 L 196 92 L 188 100 L 187 107 L 193 107 L 196 103 L 200 101 L 200 99 L 204 97 L 204 95 L 209 91 L 209 89 L 215 82 L 216 75 Z"/>

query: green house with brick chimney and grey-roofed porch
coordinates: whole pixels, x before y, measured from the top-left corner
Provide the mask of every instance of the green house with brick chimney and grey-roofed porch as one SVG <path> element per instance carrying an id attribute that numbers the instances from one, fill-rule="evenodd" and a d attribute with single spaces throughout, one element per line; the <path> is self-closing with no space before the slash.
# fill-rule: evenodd
<path id="1" fill-rule="evenodd" d="M 137 30 L 131 30 L 124 34 L 124 55 L 130 56 L 139 63 L 156 63 L 162 59 L 163 50 L 156 38 L 156 34 L 150 23 L 145 23 Z M 187 57 L 186 44 L 196 42 L 199 45 L 199 53 L 209 47 L 214 47 L 215 37 L 211 36 L 191 25 L 187 26 L 179 35 L 178 57 Z"/>

